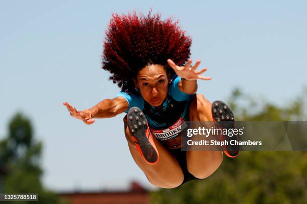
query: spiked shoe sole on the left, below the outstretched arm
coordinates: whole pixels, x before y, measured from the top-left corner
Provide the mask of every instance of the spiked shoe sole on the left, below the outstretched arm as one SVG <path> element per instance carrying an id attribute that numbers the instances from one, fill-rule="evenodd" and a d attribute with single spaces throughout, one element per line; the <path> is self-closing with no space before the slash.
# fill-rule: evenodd
<path id="1" fill-rule="evenodd" d="M 144 113 L 138 107 L 131 107 L 127 115 L 130 134 L 137 140 L 135 145 L 139 145 L 141 154 L 149 164 L 158 162 L 159 155 L 149 142 L 146 136 L 146 130 L 149 132 L 147 119 Z M 153 141 L 152 141 L 153 142 Z"/>

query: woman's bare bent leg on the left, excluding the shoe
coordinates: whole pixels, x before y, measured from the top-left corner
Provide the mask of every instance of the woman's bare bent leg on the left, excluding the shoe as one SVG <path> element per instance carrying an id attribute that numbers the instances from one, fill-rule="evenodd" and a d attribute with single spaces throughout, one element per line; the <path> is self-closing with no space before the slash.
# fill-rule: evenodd
<path id="1" fill-rule="evenodd" d="M 123 120 L 125 136 L 130 153 L 138 167 L 140 167 L 145 173 L 149 182 L 163 188 L 179 186 L 183 182 L 184 175 L 177 159 L 157 140 L 156 137 L 153 137 L 160 154 L 160 159 L 154 165 L 148 164 L 134 145 L 127 125 L 127 116 L 125 116 Z"/>

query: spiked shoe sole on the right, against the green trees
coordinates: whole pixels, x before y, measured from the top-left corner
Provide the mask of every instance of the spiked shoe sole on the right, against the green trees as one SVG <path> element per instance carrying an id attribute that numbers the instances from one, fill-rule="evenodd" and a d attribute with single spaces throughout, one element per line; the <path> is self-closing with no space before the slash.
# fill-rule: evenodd
<path id="1" fill-rule="evenodd" d="M 216 100 L 212 103 L 212 116 L 217 128 L 231 129 L 235 128 L 235 119 L 230 107 L 221 100 Z M 228 131 L 227 131 L 228 132 Z M 228 141 L 229 145 L 224 145 L 223 151 L 228 157 L 236 157 L 240 151 L 238 145 L 231 145 L 230 140 L 236 139 L 239 141 L 237 135 L 219 135 L 220 140 Z"/>

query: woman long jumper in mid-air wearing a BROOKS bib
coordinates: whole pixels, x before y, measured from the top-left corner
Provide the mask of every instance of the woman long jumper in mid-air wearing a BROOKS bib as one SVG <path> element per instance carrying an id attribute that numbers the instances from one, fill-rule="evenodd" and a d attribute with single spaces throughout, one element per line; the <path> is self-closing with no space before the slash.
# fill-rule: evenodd
<path id="1" fill-rule="evenodd" d="M 210 103 L 196 94 L 197 80 L 211 77 L 201 75 L 207 69 L 198 70 L 200 60 L 193 65 L 189 59 L 191 43 L 173 18 L 162 20 L 160 14 L 150 12 L 147 16 L 113 13 L 102 68 L 111 73 L 121 92 L 82 111 L 64 102 L 71 116 L 86 124 L 126 112 L 124 132 L 131 155 L 158 187 L 174 188 L 206 178 L 221 164 L 223 151 L 230 157 L 239 152 L 231 145 L 220 151 L 181 151 L 185 121 L 234 121 L 224 102 Z"/>

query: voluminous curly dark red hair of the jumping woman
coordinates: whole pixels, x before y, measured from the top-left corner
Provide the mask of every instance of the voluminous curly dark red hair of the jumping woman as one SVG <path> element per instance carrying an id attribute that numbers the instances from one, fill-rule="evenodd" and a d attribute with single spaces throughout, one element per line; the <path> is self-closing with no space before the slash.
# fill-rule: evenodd
<path id="1" fill-rule="evenodd" d="M 134 87 L 132 78 L 147 64 L 161 64 L 174 73 L 167 64 L 172 59 L 184 64 L 190 57 L 192 38 L 180 29 L 178 20 L 161 19 L 161 14 L 137 16 L 134 11 L 118 15 L 112 13 L 106 30 L 102 68 L 111 72 L 110 79 L 122 89 Z"/>

